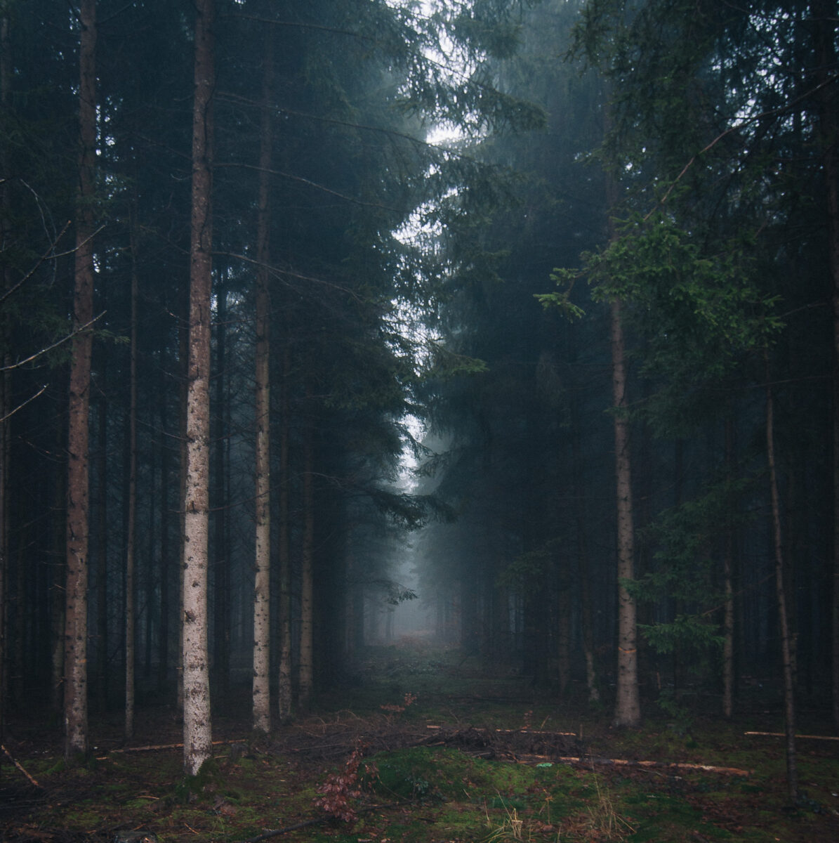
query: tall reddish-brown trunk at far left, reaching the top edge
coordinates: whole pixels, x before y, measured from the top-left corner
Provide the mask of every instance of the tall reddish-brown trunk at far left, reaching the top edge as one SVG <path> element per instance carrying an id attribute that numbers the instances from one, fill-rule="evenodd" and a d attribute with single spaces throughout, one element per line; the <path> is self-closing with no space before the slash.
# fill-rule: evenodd
<path id="1" fill-rule="evenodd" d="M 75 288 L 67 438 L 67 584 L 64 630 L 64 754 L 88 752 L 88 420 L 94 315 L 94 168 L 96 164 L 96 0 L 79 9 L 79 167 Z"/>

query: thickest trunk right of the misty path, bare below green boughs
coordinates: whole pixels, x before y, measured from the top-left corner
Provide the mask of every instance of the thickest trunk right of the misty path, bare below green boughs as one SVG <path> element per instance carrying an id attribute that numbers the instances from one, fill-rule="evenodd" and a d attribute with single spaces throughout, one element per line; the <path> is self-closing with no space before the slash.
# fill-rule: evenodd
<path id="1" fill-rule="evenodd" d="M 629 459 L 629 422 L 626 417 L 627 375 L 623 346 L 621 303 L 611 304 L 612 395 L 615 416 L 615 481 L 617 486 L 617 699 L 616 726 L 641 722 L 638 690 L 637 610 L 625 583 L 634 577 L 632 474 Z"/>

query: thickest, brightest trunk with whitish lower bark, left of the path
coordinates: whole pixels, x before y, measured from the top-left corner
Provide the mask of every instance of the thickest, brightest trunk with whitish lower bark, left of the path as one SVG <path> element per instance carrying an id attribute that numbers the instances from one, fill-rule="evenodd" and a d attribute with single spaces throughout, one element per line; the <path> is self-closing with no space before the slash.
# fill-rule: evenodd
<path id="1" fill-rule="evenodd" d="M 195 15 L 192 122 L 190 348 L 184 489 L 184 771 L 197 775 L 210 757 L 212 733 L 207 652 L 207 538 L 210 487 L 210 307 L 212 277 L 211 148 L 215 87 L 213 0 Z"/>

